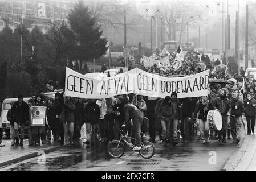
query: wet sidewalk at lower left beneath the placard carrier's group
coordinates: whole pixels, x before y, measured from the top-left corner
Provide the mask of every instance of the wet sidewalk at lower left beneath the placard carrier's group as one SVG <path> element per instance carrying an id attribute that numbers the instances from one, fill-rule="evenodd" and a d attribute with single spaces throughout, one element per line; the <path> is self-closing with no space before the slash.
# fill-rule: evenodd
<path id="1" fill-rule="evenodd" d="M 11 142 L 3 142 L 3 144 L 5 144 L 5 147 L 0 147 L 0 167 L 34 158 L 42 154 L 42 152 L 48 154 L 63 148 L 59 144 L 51 144 L 51 146 L 46 144 L 38 147 L 28 146 L 29 142 L 27 139 L 23 140 L 23 147 L 11 147 Z"/>

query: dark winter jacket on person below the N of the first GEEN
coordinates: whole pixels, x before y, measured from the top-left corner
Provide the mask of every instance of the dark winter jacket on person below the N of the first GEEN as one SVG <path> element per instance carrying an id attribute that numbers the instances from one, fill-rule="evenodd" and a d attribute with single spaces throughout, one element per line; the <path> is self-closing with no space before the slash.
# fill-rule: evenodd
<path id="1" fill-rule="evenodd" d="M 86 105 L 83 113 L 86 123 L 96 124 L 100 118 L 100 107 L 96 103 L 89 103 Z"/>

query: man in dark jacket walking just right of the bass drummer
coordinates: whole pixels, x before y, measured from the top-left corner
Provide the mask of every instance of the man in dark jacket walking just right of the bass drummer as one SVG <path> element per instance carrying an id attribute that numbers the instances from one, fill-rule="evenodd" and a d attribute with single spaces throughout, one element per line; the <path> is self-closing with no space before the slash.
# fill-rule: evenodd
<path id="1" fill-rule="evenodd" d="M 230 114 L 230 126 L 231 126 L 231 135 L 233 138 L 233 143 L 239 143 L 241 138 L 241 125 L 242 125 L 242 112 L 243 112 L 243 103 L 238 100 L 237 92 L 232 92 L 231 100 L 231 112 Z"/>

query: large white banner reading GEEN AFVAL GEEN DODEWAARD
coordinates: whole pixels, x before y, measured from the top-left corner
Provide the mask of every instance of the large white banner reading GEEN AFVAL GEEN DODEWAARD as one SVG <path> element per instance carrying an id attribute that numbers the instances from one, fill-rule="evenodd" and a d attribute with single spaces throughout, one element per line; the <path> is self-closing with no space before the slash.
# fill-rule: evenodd
<path id="1" fill-rule="evenodd" d="M 97 79 L 66 67 L 65 96 L 99 99 L 136 93 L 164 98 L 177 92 L 178 98 L 201 97 L 208 94 L 208 81 L 209 70 L 187 77 L 166 78 L 135 68 Z"/>

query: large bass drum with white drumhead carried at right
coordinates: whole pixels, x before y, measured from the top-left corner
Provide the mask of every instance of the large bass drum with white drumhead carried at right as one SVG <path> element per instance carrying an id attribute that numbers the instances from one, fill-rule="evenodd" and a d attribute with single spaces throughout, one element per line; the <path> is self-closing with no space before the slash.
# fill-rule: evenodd
<path id="1" fill-rule="evenodd" d="M 209 130 L 218 130 L 220 131 L 222 128 L 222 117 L 221 113 L 218 109 L 209 110 L 207 114 L 208 126 Z"/>

